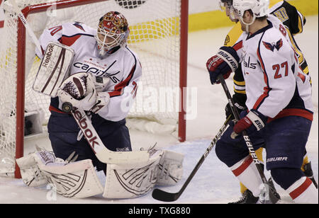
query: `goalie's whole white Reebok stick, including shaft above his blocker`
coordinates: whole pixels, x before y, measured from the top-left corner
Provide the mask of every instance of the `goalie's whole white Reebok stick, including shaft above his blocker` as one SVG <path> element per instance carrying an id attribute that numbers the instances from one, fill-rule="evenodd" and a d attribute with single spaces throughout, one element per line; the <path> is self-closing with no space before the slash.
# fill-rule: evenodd
<path id="1" fill-rule="evenodd" d="M 40 42 L 38 38 L 36 38 L 35 34 L 33 33 L 33 30 L 28 25 L 28 22 L 25 16 L 23 16 L 23 13 L 18 8 L 16 1 L 10 0 L 9 2 L 11 3 L 14 10 L 18 14 L 18 17 L 21 19 L 23 25 L 26 27 L 26 30 L 28 30 L 30 37 L 32 38 L 35 45 L 38 47 L 38 50 L 41 51 Z M 48 96 L 55 97 L 55 94 L 53 94 L 52 92 L 47 93 L 43 91 L 43 89 L 38 91 Z M 124 164 L 127 162 L 135 163 L 140 161 L 147 161 L 150 158 L 150 154 L 148 153 L 148 151 L 121 152 L 121 151 L 111 151 L 107 149 L 104 146 L 103 142 L 101 141 L 99 135 L 97 134 L 96 130 L 94 129 L 93 125 L 91 124 L 84 110 L 79 110 L 79 109 L 73 110 L 72 115 L 74 116 L 74 119 L 77 121 L 80 129 L 82 130 L 84 134 L 84 137 L 86 137 L 86 140 L 89 142 L 91 149 L 94 151 L 94 154 L 96 154 L 96 157 L 99 159 L 99 161 L 106 164 Z"/>

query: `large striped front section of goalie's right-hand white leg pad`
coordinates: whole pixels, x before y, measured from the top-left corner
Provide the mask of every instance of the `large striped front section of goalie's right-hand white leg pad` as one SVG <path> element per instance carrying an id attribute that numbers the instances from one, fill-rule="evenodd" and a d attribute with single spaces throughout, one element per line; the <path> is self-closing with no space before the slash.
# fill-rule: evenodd
<path id="1" fill-rule="evenodd" d="M 103 197 L 134 198 L 145 195 L 157 181 L 163 151 L 154 151 L 148 161 L 138 164 L 108 164 Z"/>

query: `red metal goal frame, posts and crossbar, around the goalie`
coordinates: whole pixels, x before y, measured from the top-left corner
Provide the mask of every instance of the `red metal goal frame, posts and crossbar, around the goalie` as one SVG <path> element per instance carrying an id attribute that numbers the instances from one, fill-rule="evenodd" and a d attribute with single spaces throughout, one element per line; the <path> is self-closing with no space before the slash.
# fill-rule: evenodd
<path id="1" fill-rule="evenodd" d="M 56 9 L 82 6 L 109 0 L 60 0 L 52 3 L 27 6 L 21 11 L 28 18 L 31 13 L 40 13 L 54 6 Z M 186 87 L 187 87 L 187 48 L 188 48 L 188 17 L 189 0 L 181 0 L 180 15 L 180 54 L 179 54 L 179 142 L 186 140 Z M 26 78 L 26 28 L 18 18 L 18 50 L 17 50 L 17 89 L 16 89 L 16 159 L 23 156 L 24 150 L 24 109 L 25 109 L 25 78 Z M 18 164 L 15 164 L 15 178 L 21 178 Z"/>

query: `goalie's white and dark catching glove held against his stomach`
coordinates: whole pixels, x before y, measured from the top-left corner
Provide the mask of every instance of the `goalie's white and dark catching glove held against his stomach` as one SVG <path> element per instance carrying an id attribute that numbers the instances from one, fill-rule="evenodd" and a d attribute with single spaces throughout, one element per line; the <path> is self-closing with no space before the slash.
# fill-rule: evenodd
<path id="1" fill-rule="evenodd" d="M 62 103 L 67 103 L 69 110 L 74 107 L 98 113 L 110 101 L 108 93 L 102 92 L 109 81 L 108 78 L 96 77 L 86 72 L 73 74 L 62 82 L 57 96 Z M 63 105 L 62 110 L 69 112 Z"/>

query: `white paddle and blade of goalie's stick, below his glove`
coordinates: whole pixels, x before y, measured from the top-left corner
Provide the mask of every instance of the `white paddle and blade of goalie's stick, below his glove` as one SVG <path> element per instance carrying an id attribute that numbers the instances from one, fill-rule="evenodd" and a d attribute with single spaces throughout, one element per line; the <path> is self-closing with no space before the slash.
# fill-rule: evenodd
<path id="1" fill-rule="evenodd" d="M 150 158 L 148 151 L 111 151 L 107 149 L 84 110 L 76 108 L 71 113 L 99 161 L 106 164 L 134 164 Z"/>

